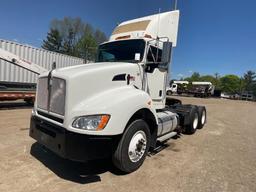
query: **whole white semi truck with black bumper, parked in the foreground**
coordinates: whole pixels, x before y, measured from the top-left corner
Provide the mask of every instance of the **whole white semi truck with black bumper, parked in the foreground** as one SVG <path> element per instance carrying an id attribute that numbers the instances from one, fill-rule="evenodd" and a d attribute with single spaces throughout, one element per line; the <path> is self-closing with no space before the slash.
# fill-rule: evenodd
<path id="1" fill-rule="evenodd" d="M 123 22 L 95 63 L 40 75 L 30 136 L 63 158 L 111 157 L 129 173 L 158 142 L 202 128 L 205 107 L 166 100 L 178 21 L 175 10 Z"/>

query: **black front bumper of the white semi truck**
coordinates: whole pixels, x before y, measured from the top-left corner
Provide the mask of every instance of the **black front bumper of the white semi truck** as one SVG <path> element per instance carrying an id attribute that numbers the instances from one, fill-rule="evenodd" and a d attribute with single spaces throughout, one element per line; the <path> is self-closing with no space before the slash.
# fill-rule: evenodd
<path id="1" fill-rule="evenodd" d="M 31 117 L 29 135 L 59 156 L 80 162 L 109 157 L 118 140 L 74 133 L 36 116 Z"/>

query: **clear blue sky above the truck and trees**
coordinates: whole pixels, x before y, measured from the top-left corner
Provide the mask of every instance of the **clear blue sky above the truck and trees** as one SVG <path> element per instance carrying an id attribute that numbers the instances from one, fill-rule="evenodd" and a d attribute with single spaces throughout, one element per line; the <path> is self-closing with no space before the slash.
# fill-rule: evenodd
<path id="1" fill-rule="evenodd" d="M 125 20 L 172 9 L 173 0 L 2 0 L 0 39 L 40 47 L 52 19 L 81 17 L 109 36 Z M 173 79 L 256 71 L 255 0 L 178 0 L 181 11 Z"/>

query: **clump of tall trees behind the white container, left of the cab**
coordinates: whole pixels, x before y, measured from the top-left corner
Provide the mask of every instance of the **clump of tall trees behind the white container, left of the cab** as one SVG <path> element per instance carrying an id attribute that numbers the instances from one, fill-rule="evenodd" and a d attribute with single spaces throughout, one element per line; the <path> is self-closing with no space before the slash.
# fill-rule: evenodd
<path id="1" fill-rule="evenodd" d="M 80 18 L 64 17 L 63 19 L 54 19 L 50 25 L 51 31 L 58 34 L 61 41 L 58 43 L 58 49 L 49 46 L 57 44 L 52 37 L 52 32 L 49 32 L 49 37 L 46 38 L 43 48 L 51 51 L 61 52 L 67 55 L 84 58 L 85 60 L 94 60 L 97 46 L 106 41 L 105 34 L 99 29 L 94 28 L 83 22 Z M 53 42 L 53 43 L 52 43 Z M 49 44 L 49 45 L 48 45 Z"/>

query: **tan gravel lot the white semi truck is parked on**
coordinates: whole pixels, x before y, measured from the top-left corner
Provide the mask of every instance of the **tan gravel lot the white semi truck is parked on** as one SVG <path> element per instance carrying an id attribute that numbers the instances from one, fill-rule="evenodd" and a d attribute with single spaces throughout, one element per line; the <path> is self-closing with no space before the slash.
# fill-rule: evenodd
<path id="1" fill-rule="evenodd" d="M 129 175 L 108 160 L 80 164 L 45 151 L 28 136 L 31 108 L 0 110 L 0 191 L 255 192 L 256 103 L 179 99 L 205 105 L 207 125 L 169 140 Z"/>

